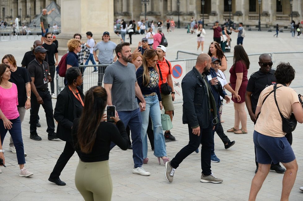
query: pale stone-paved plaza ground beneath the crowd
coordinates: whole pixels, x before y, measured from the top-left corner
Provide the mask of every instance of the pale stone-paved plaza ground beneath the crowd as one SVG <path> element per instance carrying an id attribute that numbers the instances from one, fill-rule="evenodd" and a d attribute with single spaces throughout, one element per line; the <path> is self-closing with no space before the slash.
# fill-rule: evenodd
<path id="1" fill-rule="evenodd" d="M 176 29 L 175 32 L 169 34 L 164 33 L 169 43 L 167 59 L 175 59 L 178 50 L 200 53 L 196 50 L 196 35 L 186 34 L 186 29 Z M 292 38 L 291 33 L 283 32 L 279 33 L 278 38 L 273 38 L 273 34 L 274 32 L 267 32 L 267 30 L 262 32 L 247 31 L 244 38 L 245 50 L 247 53 L 303 51 L 302 36 L 300 39 Z M 206 30 L 204 52 L 208 51 L 209 44 L 213 41 L 212 36 L 213 31 Z M 11 41 L 5 41 L 7 39 L 3 39 L 2 36 L 0 58 L 2 59 L 4 54 L 11 53 L 17 60 L 17 66 L 20 66 L 24 53 L 29 51 L 34 40 L 40 39 L 39 36 L 36 39 L 33 36 L 30 36 L 29 39 L 26 39 L 26 36 L 23 37 L 18 40 L 13 38 Z M 135 47 L 138 44 L 136 41 L 140 41 L 143 37 L 143 35 L 134 35 L 132 47 Z M 231 37 L 233 47 L 237 34 L 233 32 Z M 85 40 L 85 37 L 83 39 Z M 226 53 L 226 55 L 231 54 L 232 51 Z M 302 94 L 303 88 L 296 88 L 296 91 Z M 55 107 L 56 100 L 53 99 L 52 101 L 53 107 Z M 29 111 L 27 111 L 22 124 L 24 150 L 27 153 L 25 167 L 28 167 L 29 171 L 34 173 L 32 177 L 18 176 L 17 157 L 9 151 L 9 133 L 4 139 L 3 148 L 6 149 L 5 162 L 7 168 L 1 167 L 0 200 L 83 200 L 74 183 L 75 170 L 79 161 L 76 153 L 69 160 L 60 176 L 60 179 L 66 182 L 66 186 L 57 186 L 47 180 L 63 151 L 65 142 L 59 139 L 47 140 L 45 113 L 42 107 L 39 116 L 41 127 L 37 128 L 37 131 L 42 137 L 42 141 L 29 139 Z M 233 127 L 234 108 L 232 103 L 223 106 L 222 118 L 225 120 L 225 123 L 222 124 L 224 130 Z M 167 154 L 170 159 L 189 141 L 187 125 L 182 124 L 182 103 L 175 104 L 173 126 L 171 132 L 176 137 L 176 141 L 166 143 Z M 303 200 L 303 192 L 299 190 L 299 187 L 303 186 L 302 130 L 303 125 L 298 123 L 296 130 L 293 132 L 292 144 L 299 169 L 290 200 L 298 201 Z M 150 176 L 133 174 L 132 151 L 122 151 L 115 147 L 109 156 L 113 183 L 112 200 L 248 200 L 250 184 L 256 168 L 252 133 L 253 123 L 248 115 L 248 134 L 226 133 L 231 141 L 236 141 L 230 149 L 224 149 L 221 139 L 215 134 L 215 153 L 221 161 L 212 163 L 212 172 L 216 177 L 223 179 L 223 182 L 219 184 L 200 182 L 200 152 L 198 154 L 194 152 L 188 156 L 176 169 L 173 182 L 169 183 L 164 176 L 165 166 L 158 164 L 150 145 L 148 148 L 149 162 L 143 165 L 144 169 L 151 172 Z M 270 171 L 257 196 L 257 200 L 279 200 L 282 178 L 283 174 Z"/>

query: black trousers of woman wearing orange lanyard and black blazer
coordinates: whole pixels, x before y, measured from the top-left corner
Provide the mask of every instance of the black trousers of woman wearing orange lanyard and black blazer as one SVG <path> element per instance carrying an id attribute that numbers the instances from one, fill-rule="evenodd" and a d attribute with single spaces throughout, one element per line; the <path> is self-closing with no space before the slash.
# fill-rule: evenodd
<path id="1" fill-rule="evenodd" d="M 51 172 L 50 178 L 52 179 L 59 179 L 59 176 L 61 175 L 62 170 L 64 169 L 65 165 L 67 164 L 68 160 L 72 157 L 72 155 L 75 153 L 75 149 L 71 142 L 66 142 L 64 150 L 60 157 L 57 160 L 57 163 Z M 77 152 L 79 158 L 80 158 L 80 152 Z"/>

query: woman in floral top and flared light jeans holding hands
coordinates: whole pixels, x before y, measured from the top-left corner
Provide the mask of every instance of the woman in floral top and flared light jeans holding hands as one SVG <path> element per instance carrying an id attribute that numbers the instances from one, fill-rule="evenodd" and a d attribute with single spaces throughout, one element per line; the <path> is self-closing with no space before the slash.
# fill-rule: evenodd
<path id="1" fill-rule="evenodd" d="M 147 126 L 149 116 L 152 118 L 154 129 L 154 155 L 160 158 L 165 164 L 169 161 L 166 157 L 165 139 L 161 125 L 161 112 L 163 108 L 159 89 L 159 73 L 156 68 L 156 62 L 159 58 L 158 53 L 154 49 L 147 49 L 143 54 L 143 65 L 138 68 L 136 75 L 138 85 L 140 86 L 143 97 L 146 101 L 146 110 L 141 112 L 142 127 L 141 137 L 143 145 L 143 163 L 147 163 Z M 142 103 L 139 103 L 141 107 Z"/>

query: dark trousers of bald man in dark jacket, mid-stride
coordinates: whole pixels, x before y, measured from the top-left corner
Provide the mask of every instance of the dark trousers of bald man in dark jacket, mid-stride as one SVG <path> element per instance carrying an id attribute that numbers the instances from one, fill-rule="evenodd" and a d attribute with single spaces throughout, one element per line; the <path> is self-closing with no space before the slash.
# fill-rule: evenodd
<path id="1" fill-rule="evenodd" d="M 213 124 L 209 121 L 207 128 L 200 128 L 200 135 L 194 135 L 191 127 L 188 125 L 189 143 L 183 147 L 177 155 L 171 160 L 170 165 L 173 168 L 178 168 L 180 163 L 192 152 L 201 147 L 201 168 L 205 176 L 211 174 L 210 153 L 213 146 Z"/>

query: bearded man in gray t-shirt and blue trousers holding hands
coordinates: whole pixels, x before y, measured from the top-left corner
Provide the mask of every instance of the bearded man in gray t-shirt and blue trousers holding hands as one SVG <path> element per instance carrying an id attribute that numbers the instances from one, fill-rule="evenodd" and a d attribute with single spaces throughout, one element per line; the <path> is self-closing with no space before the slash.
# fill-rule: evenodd
<path id="1" fill-rule="evenodd" d="M 129 43 L 116 46 L 119 60 L 107 66 L 104 72 L 104 88 L 108 94 L 107 105 L 116 106 L 116 116 L 131 130 L 133 143 L 134 174 L 150 175 L 143 167 L 143 148 L 141 139 L 141 113 L 145 110 L 145 100 L 137 83 L 135 66 L 131 64 L 131 49 Z M 138 97 L 140 109 L 135 97 Z M 111 149 L 115 146 L 111 143 Z"/>

